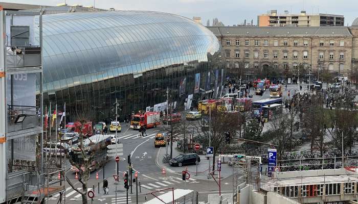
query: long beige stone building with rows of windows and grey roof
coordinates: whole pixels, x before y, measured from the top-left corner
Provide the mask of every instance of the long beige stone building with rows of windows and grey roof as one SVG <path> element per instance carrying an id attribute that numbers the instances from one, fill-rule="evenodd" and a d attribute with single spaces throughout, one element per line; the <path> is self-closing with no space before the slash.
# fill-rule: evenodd
<path id="1" fill-rule="evenodd" d="M 262 71 L 283 70 L 293 77 L 311 67 L 349 75 L 353 37 L 348 27 L 208 27 L 222 45 L 221 58 L 230 69 L 244 68 L 246 77 Z M 358 34 L 358 26 L 357 26 Z M 358 40 L 355 40 L 358 43 Z M 358 44 L 354 45 L 358 47 Z M 358 56 L 358 55 L 356 55 Z M 290 77 L 292 77 L 290 75 Z M 244 76 L 243 76 L 244 77 Z M 256 77 L 255 74 L 252 77 Z"/>

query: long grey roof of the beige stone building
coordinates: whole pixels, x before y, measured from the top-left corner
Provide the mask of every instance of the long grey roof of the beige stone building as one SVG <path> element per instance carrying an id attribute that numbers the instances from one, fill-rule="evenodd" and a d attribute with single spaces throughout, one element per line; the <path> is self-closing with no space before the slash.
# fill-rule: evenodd
<path id="1" fill-rule="evenodd" d="M 357 19 L 356 19 L 357 20 Z M 358 25 L 358 20 L 357 20 Z M 216 36 L 352 36 L 348 27 L 207 27 Z"/>

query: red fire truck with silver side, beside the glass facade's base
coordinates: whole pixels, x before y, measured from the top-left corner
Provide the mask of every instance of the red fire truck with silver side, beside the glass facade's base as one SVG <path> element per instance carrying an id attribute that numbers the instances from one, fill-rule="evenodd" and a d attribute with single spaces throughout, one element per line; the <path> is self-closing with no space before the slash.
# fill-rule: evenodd
<path id="1" fill-rule="evenodd" d="M 159 112 L 143 112 L 132 115 L 130 120 L 130 128 L 139 129 L 141 126 L 156 127 L 160 125 L 160 113 Z"/>

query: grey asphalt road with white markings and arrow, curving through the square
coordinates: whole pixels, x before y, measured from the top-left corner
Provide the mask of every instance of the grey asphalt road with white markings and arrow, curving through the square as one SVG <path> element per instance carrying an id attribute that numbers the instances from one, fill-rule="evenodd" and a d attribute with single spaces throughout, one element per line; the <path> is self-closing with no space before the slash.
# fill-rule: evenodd
<path id="1" fill-rule="evenodd" d="M 306 89 L 306 85 L 302 85 L 303 90 Z M 294 90 L 298 90 L 297 85 L 288 85 L 288 90 L 292 92 L 293 95 Z M 287 91 L 288 91 L 287 90 Z M 283 91 L 283 98 L 287 97 L 287 91 Z M 270 97 L 270 91 L 266 90 L 262 96 L 254 95 L 254 91 L 251 89 L 251 94 L 253 94 L 253 99 L 260 100 L 264 98 Z M 163 132 L 161 126 L 147 129 L 147 136 L 138 137 L 139 132 L 128 129 L 129 123 L 122 123 L 122 132 L 118 133 L 120 138 L 120 142 L 123 143 L 123 156 L 122 158 L 125 161 L 119 162 L 119 174 L 120 181 L 117 185 L 117 198 L 116 194 L 116 185 L 114 184 L 113 175 L 117 174 L 116 172 L 116 162 L 114 158 L 110 158 L 104 168 L 101 168 L 98 171 L 91 173 L 91 179 L 88 182 L 88 188 L 93 189 L 95 191 L 95 198 L 93 203 L 111 203 L 111 204 L 121 204 L 126 202 L 126 191 L 123 185 L 122 174 L 123 171 L 127 171 L 127 155 L 131 155 L 131 162 L 133 169 L 138 172 L 139 182 L 140 182 L 140 192 L 138 196 L 139 203 L 145 202 L 145 198 L 150 200 L 153 198 L 152 195 L 145 195 L 147 193 L 157 191 L 160 189 L 166 188 L 175 188 L 175 189 L 191 189 L 193 191 L 199 192 L 199 201 L 206 201 L 208 194 L 217 194 L 218 186 L 213 180 L 198 180 L 193 179 L 189 181 L 182 181 L 181 175 L 172 174 L 166 172 L 162 173 L 162 169 L 156 164 L 155 159 L 157 157 L 158 148 L 154 147 L 154 136 L 156 133 Z M 109 133 L 114 134 L 114 133 Z M 158 158 L 162 159 L 162 158 Z M 69 166 L 68 166 L 69 167 Z M 103 169 L 104 169 L 104 178 L 109 182 L 109 194 L 104 195 L 103 190 L 101 188 L 103 181 Z M 99 179 L 96 180 L 96 173 L 99 175 Z M 73 177 L 72 182 L 75 183 L 77 188 L 81 188 L 81 184 L 75 180 L 75 174 L 68 171 L 67 175 L 71 178 Z M 139 184 L 139 183 L 138 183 Z M 232 177 L 228 177 L 225 180 L 221 181 L 221 191 L 231 191 L 232 190 Z M 98 188 L 100 187 L 100 188 Z M 170 189 L 167 189 L 163 192 L 158 192 L 156 195 L 160 195 L 162 193 L 168 192 Z M 98 193 L 99 191 L 99 193 Z M 55 195 L 49 199 L 49 203 L 57 203 L 59 199 L 59 195 Z M 74 191 L 67 183 L 66 183 L 66 195 L 62 197 L 62 201 L 65 199 L 66 203 L 82 203 L 81 196 L 79 193 Z M 90 200 L 88 200 L 90 202 Z M 128 203 L 136 203 L 136 184 L 133 183 L 132 186 L 132 194 L 128 196 Z"/>

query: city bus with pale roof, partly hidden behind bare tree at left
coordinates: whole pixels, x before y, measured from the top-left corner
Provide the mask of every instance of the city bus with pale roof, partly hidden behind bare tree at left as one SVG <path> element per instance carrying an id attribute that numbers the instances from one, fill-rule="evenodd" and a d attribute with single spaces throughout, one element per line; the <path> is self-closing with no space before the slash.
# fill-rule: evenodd
<path id="1" fill-rule="evenodd" d="M 79 143 L 72 147 L 70 157 L 76 164 L 81 165 L 81 169 L 83 168 L 82 170 L 84 170 L 85 166 L 83 165 L 83 156 Z M 92 163 L 89 165 L 90 171 L 99 169 L 107 162 L 107 146 L 109 144 L 111 144 L 110 135 L 94 135 L 83 140 L 83 148 L 86 157 L 89 158 L 93 156 Z M 75 166 L 71 166 L 71 171 L 78 172 L 79 169 Z"/>

